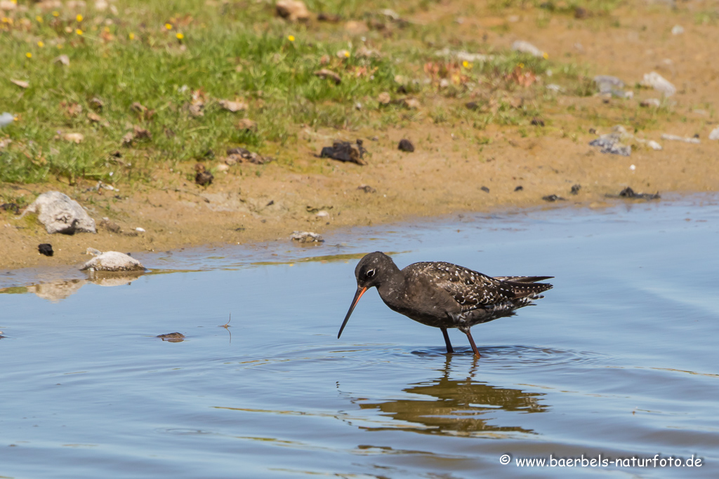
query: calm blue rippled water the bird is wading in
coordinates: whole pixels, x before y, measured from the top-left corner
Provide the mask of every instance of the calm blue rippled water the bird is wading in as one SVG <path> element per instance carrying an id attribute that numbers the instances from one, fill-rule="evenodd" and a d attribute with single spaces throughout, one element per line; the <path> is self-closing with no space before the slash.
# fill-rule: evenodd
<path id="1" fill-rule="evenodd" d="M 116 287 L 0 271 L 18 293 L 0 295 L 0 477 L 718 477 L 718 200 L 145 255 L 152 274 Z M 458 331 L 445 355 L 439 330 L 375 289 L 337 340 L 375 250 L 556 279 L 536 307 L 472 329 L 478 361 Z M 702 462 L 516 462 L 582 455 Z"/>

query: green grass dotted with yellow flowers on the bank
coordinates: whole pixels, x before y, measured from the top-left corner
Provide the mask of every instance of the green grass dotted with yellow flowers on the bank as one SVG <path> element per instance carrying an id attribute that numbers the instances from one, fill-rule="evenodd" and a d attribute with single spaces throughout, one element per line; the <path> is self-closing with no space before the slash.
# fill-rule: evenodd
<path id="1" fill-rule="evenodd" d="M 541 113 L 541 87 L 521 88 L 510 76 L 520 64 L 539 75 L 549 61 L 460 41 L 451 24 L 398 24 L 377 14 L 385 8 L 400 14 L 423 11 L 434 2 L 307 4 L 314 12 L 341 14 L 343 22 L 291 24 L 275 17 L 270 1 L 217 1 L 213 6 L 118 0 L 111 4 L 116 13 L 91 6 L 53 13 L 27 1 L 27 11 L 15 11 L 0 23 L 0 113 L 17 117 L 0 130 L 0 140 L 12 139 L 0 149 L 0 182 L 148 181 L 157 165 L 221 157 L 226 147 L 238 144 L 281 157 L 299 141 L 301 126 L 381 130 L 430 118 L 482 129 L 491 122 L 527 125 Z M 349 19 L 387 27 L 350 35 L 344 31 Z M 496 57 L 462 64 L 438 57 L 436 51 L 444 47 Z M 348 50 L 349 57 L 338 57 L 340 50 Z M 363 50 L 380 55 L 362 55 Z M 58 55 L 67 55 L 70 65 L 55 62 Z M 425 73 L 428 63 L 436 65 L 435 73 Z M 313 73 L 320 68 L 338 73 L 342 82 L 318 78 Z M 582 78 L 576 68 L 565 70 L 565 83 Z M 405 93 L 398 93 L 398 75 Z M 29 88 L 10 80 L 27 81 Z M 440 87 L 441 80 L 449 85 Z M 577 90 L 586 94 L 587 88 Z M 203 116 L 189 111 L 197 90 L 206 98 Z M 462 107 L 477 92 L 495 95 L 498 90 L 508 95 L 521 90 L 530 98 L 513 108 L 499 97 L 493 113 Z M 378 103 L 383 92 L 393 103 Z M 408 95 L 421 99 L 422 111 L 396 102 Z M 226 111 L 218 103 L 223 99 L 242 100 L 247 110 Z M 134 103 L 147 111 L 133 108 Z M 88 113 L 101 121 L 91 121 Z M 257 129 L 238 129 L 240 118 L 255 121 Z M 123 145 L 134 126 L 151 137 Z M 84 140 L 66 141 L 68 133 L 81 133 Z"/>

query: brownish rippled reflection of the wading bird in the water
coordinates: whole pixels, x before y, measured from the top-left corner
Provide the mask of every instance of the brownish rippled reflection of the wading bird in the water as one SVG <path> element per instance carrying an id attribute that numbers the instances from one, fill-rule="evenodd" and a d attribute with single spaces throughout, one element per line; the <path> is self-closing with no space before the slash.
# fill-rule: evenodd
<path id="1" fill-rule="evenodd" d="M 407 425 L 399 427 L 426 434 L 468 434 L 472 432 L 525 432 L 531 429 L 520 426 L 498 425 L 498 410 L 518 412 L 544 412 L 548 406 L 539 399 L 544 394 L 530 393 L 521 389 L 507 389 L 475 381 L 474 372 L 465 379 L 449 378 L 451 357 L 441 371 L 442 375 L 433 381 L 410 384 L 403 391 L 418 394 L 424 398 L 399 399 L 359 404 L 360 409 L 378 409 L 386 416 Z M 490 424 L 492 422 L 493 424 Z M 412 424 L 421 426 L 413 427 Z M 388 427 L 362 427 L 370 431 L 398 429 Z"/>

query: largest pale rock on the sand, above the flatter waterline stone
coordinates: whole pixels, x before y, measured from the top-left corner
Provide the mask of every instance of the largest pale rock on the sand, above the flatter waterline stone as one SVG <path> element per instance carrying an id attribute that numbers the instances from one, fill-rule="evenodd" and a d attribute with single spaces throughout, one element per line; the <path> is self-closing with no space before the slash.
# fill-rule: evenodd
<path id="1" fill-rule="evenodd" d="M 37 213 L 37 219 L 45 225 L 47 233 L 74 234 L 77 231 L 97 233 L 95 220 L 83 207 L 65 193 L 48 191 L 42 193 L 29 205 L 22 215 Z"/>

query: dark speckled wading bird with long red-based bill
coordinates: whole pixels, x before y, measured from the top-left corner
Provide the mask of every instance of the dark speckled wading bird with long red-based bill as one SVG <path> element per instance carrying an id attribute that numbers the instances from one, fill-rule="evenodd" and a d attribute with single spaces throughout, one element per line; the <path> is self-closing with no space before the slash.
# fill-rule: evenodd
<path id="1" fill-rule="evenodd" d="M 497 276 L 477 273 L 452 263 L 438 261 L 414 263 L 400 270 L 384 253 L 365 255 L 354 269 L 357 292 L 339 328 L 342 335 L 349 315 L 367 289 L 377 287 L 390 307 L 423 325 L 439 327 L 447 353 L 454 353 L 447 328 L 456 327 L 467 335 L 475 356 L 479 357 L 470 328 L 498 317 L 513 316 L 514 310 L 539 299 L 551 289 L 549 283 L 537 283 L 554 276 Z"/>

